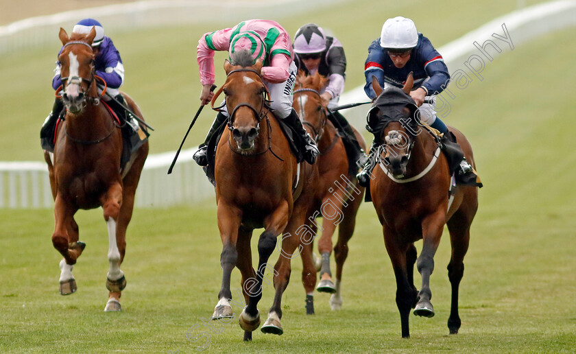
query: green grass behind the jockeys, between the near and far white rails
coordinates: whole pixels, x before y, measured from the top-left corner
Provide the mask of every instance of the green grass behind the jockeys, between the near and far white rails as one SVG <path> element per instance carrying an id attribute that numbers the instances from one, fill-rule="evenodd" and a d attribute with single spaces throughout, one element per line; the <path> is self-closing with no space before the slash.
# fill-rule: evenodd
<path id="1" fill-rule="evenodd" d="M 525 1 L 526 5 L 538 2 Z M 280 22 L 292 36 L 300 25 L 315 22 L 339 38 L 348 59 L 347 87 L 350 89 L 363 84 L 368 45 L 380 36 L 382 23 L 388 17 L 400 14 L 411 17 L 418 30 L 431 38 L 435 47 L 441 47 L 490 19 L 514 10 L 516 4 L 515 0 L 483 0 L 466 5 L 457 0 L 435 3 L 355 0 L 298 16 L 278 14 L 272 19 Z M 215 16 L 212 25 L 191 24 L 109 34 L 125 66 L 122 89 L 136 100 L 149 124 L 156 128 L 150 138 L 151 154 L 176 150 L 199 107 L 201 86 L 195 60 L 198 38 L 205 32 L 235 24 L 218 23 Z M 57 27 L 53 33 L 50 43 L 0 56 L 3 82 L 0 161 L 42 161 L 38 132 L 52 107 L 52 70 L 61 47 Z M 215 57 L 218 85 L 224 82 L 222 63 L 226 56 L 219 52 Z M 184 147 L 204 141 L 214 116 L 210 109 L 204 109 Z"/>

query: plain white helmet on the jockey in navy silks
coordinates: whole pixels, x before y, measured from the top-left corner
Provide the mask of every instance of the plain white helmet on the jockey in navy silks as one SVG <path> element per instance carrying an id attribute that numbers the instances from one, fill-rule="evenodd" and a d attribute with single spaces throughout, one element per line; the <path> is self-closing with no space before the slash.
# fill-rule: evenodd
<path id="1" fill-rule="evenodd" d="M 380 46 L 384 49 L 412 49 L 418 44 L 418 31 L 411 19 L 387 19 L 382 26 Z"/>

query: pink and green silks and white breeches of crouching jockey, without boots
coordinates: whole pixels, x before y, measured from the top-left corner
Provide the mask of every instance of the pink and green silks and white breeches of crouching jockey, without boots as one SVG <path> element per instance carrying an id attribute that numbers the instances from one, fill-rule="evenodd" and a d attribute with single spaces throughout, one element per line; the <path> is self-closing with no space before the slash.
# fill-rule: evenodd
<path id="1" fill-rule="evenodd" d="M 256 36 L 250 36 L 250 32 Z M 248 33 L 248 35 L 247 35 Z M 204 34 L 198 41 L 197 62 L 202 85 L 215 82 L 214 51 L 245 49 L 245 38 L 255 43 L 254 59 L 263 59 L 262 78 L 266 85 L 272 110 L 279 118 L 287 117 L 292 108 L 292 86 L 296 79 L 296 65 L 293 63 L 292 41 L 286 30 L 275 21 L 248 20 L 232 28 L 224 28 Z M 235 46 L 230 47 L 231 44 Z M 250 49 L 250 47 L 248 47 Z"/>

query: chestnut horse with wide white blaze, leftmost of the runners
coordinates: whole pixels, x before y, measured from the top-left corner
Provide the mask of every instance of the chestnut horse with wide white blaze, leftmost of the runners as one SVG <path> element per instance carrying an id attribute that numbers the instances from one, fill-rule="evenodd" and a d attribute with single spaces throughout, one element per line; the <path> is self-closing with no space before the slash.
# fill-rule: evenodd
<path id="1" fill-rule="evenodd" d="M 60 261 L 60 294 L 77 290 L 72 268 L 86 246 L 78 241 L 74 215 L 79 209 L 102 207 L 108 226 L 110 262 L 106 278 L 108 302 L 104 311 L 120 311 L 119 299 L 126 285 L 120 269 L 126 247 L 125 233 L 132 218 L 134 194 L 148 154 L 148 142 L 141 145 L 121 169 L 123 141 L 119 121 L 113 119 L 103 104 L 96 85 L 91 46 L 95 35 L 92 29 L 89 34 L 73 33 L 69 37 L 60 28 L 59 37 L 64 47 L 58 60 L 67 113 L 56 128 L 53 155 L 45 151 L 44 156 L 54 198 L 56 226 L 52 244 L 64 257 Z M 133 112 L 142 117 L 134 101 L 124 96 Z"/>

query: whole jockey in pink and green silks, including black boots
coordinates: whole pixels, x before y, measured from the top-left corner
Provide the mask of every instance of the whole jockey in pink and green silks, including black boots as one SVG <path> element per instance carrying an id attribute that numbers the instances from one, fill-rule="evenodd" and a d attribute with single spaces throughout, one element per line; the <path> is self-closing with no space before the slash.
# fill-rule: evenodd
<path id="1" fill-rule="evenodd" d="M 202 35 L 198 41 L 197 62 L 200 67 L 202 93 L 200 102 L 208 104 L 214 97 L 210 91 L 215 82 L 214 53 L 228 51 L 230 58 L 237 51 L 248 50 L 254 62 L 263 62 L 262 80 L 269 92 L 270 108 L 278 119 L 282 119 L 299 136 L 300 151 L 304 160 L 314 163 L 318 149 L 310 135 L 304 130 L 296 111 L 292 108 L 292 88 L 296 80 L 296 64 L 293 62 L 292 41 L 286 30 L 278 23 L 269 20 L 242 21 L 232 28 L 224 28 Z M 234 63 L 232 63 L 234 64 Z M 218 113 L 206 136 L 193 158 L 200 166 L 206 166 L 208 142 L 217 134 L 228 119 L 226 107 Z"/>

